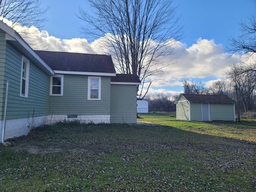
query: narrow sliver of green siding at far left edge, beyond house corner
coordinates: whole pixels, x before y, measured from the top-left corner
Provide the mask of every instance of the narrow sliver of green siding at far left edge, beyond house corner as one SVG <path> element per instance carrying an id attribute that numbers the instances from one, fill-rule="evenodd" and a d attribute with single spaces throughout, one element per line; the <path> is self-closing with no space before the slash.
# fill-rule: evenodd
<path id="1" fill-rule="evenodd" d="M 4 110 L 4 67 L 5 67 L 6 41 L 5 33 L 0 29 L 0 118 L 2 119 Z"/>

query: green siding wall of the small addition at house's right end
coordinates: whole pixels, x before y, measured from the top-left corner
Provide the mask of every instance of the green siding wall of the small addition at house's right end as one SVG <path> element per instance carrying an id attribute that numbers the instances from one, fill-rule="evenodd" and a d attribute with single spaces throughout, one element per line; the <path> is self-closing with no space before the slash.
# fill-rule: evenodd
<path id="1" fill-rule="evenodd" d="M 111 84 L 110 123 L 137 123 L 137 86 Z"/>

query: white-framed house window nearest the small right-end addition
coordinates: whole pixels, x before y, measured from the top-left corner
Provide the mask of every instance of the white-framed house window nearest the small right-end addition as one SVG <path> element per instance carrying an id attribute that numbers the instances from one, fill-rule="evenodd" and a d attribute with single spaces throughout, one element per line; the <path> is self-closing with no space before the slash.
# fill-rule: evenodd
<path id="1" fill-rule="evenodd" d="M 101 99 L 101 77 L 88 77 L 88 99 Z"/>

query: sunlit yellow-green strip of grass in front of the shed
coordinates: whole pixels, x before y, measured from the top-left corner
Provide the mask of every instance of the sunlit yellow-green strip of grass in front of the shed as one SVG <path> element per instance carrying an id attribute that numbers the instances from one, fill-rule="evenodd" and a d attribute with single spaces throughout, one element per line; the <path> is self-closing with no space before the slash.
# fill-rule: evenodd
<path id="1" fill-rule="evenodd" d="M 167 125 L 199 134 L 209 134 L 256 142 L 256 118 L 250 119 L 249 121 L 242 119 L 242 123 L 238 124 L 236 122 L 225 121 L 214 121 L 209 123 L 177 121 L 175 117 L 170 117 L 165 113 L 141 114 L 140 117 L 141 119 L 138 119 L 138 122 Z"/>

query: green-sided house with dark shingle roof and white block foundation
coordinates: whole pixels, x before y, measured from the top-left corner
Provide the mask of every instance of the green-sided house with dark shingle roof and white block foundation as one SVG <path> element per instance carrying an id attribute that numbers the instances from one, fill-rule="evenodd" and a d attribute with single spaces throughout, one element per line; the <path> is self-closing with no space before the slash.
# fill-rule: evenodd
<path id="1" fill-rule="evenodd" d="M 136 123 L 139 84 L 110 55 L 34 51 L 0 21 L 1 138 L 4 127 L 7 139 L 59 121 Z"/>

